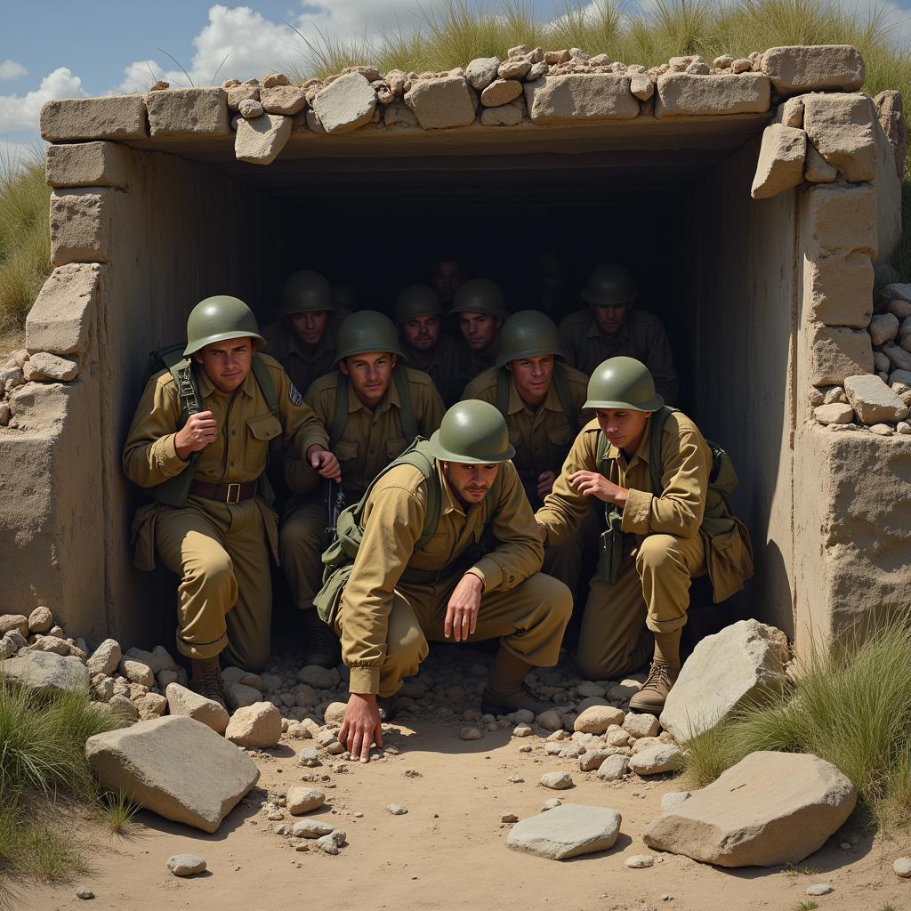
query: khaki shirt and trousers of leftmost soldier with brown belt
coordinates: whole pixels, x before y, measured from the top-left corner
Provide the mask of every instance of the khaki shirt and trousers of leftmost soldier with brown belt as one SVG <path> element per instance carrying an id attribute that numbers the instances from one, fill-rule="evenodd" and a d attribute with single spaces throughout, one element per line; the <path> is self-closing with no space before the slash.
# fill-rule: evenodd
<path id="1" fill-rule="evenodd" d="M 194 478 L 215 484 L 255 481 L 266 467 L 269 441 L 277 436 L 303 458 L 328 438 L 312 409 L 292 392 L 279 363 L 261 355 L 278 396 L 271 415 L 252 371 L 233 394 L 220 393 L 197 370 L 201 410 L 218 422 L 218 439 L 200 452 Z M 154 487 L 186 468 L 174 448 L 181 412 L 172 376 L 148 381 L 123 450 L 123 468 L 140 487 Z M 133 526 L 136 565 L 154 567 L 154 552 L 180 577 L 177 648 L 189 658 L 227 651 L 232 664 L 261 668 L 269 658 L 271 578 L 269 549 L 278 556 L 275 513 L 259 496 L 229 504 L 189 496 L 180 509 L 151 503 Z"/>

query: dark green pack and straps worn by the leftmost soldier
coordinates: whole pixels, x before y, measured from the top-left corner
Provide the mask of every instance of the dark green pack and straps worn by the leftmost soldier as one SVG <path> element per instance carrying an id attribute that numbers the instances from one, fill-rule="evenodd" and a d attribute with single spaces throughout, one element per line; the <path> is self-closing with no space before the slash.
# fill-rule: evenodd
<path id="1" fill-rule="evenodd" d="M 161 373 L 162 370 L 169 371 L 180 395 L 181 408 L 177 421 L 178 430 L 189 421 L 191 415 L 198 415 L 202 410 L 200 407 L 200 387 L 196 381 L 193 361 L 192 358 L 184 356 L 185 347 L 185 344 L 171 344 L 150 352 L 146 363 L 146 374 L 143 378 L 143 386 L 145 386 L 155 374 Z M 275 392 L 275 384 L 272 383 L 266 363 L 259 354 L 253 354 L 251 370 L 256 377 L 256 382 L 260 385 L 262 397 L 266 400 L 266 404 L 269 405 L 271 415 L 281 420 L 279 398 Z M 163 484 L 153 487 L 152 496 L 165 506 L 178 509 L 186 506 L 189 486 L 192 483 L 193 473 L 199 458 L 199 452 L 190 455 L 187 467 L 179 475 L 169 477 Z M 260 476 L 259 484 L 262 498 L 271 504 L 275 497 L 265 472 Z"/>

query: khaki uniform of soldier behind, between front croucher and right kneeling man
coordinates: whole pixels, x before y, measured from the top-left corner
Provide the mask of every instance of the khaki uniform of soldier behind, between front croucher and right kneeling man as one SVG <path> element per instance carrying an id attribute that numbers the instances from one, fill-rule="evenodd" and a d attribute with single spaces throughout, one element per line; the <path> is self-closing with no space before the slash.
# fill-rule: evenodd
<path id="1" fill-rule="evenodd" d="M 572 367 L 566 367 L 565 370 L 568 392 L 578 415 L 577 425 L 569 424 L 553 383 L 540 406 L 532 408 L 518 394 L 511 375 L 509 378 L 506 419 L 509 442 L 516 449 L 513 465 L 517 468 L 533 509 L 542 505 L 537 496 L 537 477 L 544 471 L 559 474 L 579 427 L 591 416 L 582 408 L 588 397 L 589 378 Z M 462 397 L 481 399 L 482 402 L 496 405 L 496 374 L 497 368 L 491 367 L 477 376 L 466 386 Z M 570 590 L 576 589 L 581 576 L 583 538 L 596 533 L 598 527 L 597 518 L 593 518 L 594 521 L 588 520 L 565 541 L 547 548 L 544 554 L 544 572 L 558 578 Z"/>

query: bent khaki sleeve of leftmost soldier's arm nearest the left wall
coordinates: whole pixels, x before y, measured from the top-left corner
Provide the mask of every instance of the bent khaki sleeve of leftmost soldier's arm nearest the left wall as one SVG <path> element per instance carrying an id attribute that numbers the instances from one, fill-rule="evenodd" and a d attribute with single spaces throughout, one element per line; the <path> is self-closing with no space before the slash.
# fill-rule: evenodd
<path id="1" fill-rule="evenodd" d="M 134 484 L 158 486 L 187 467 L 174 445 L 180 410 L 173 382 L 159 382 L 153 376 L 139 400 L 123 446 L 124 474 Z"/>

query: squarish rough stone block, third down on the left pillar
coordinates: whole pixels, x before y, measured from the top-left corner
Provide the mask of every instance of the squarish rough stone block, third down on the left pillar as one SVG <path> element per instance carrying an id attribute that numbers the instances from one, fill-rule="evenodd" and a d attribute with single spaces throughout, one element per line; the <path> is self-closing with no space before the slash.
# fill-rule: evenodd
<path id="1" fill-rule="evenodd" d="M 51 193 L 51 264 L 107 262 L 116 189 L 56 189 Z"/>

